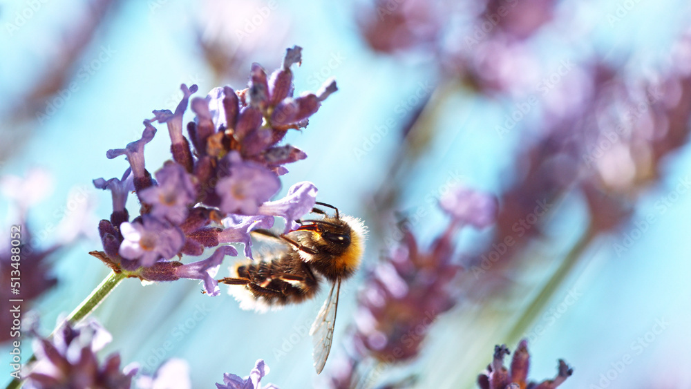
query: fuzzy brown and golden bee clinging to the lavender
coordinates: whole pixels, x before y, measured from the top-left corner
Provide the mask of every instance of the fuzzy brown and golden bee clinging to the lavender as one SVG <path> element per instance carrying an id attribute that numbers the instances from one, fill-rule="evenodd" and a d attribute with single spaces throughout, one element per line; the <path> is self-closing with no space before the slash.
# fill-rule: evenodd
<path id="1" fill-rule="evenodd" d="M 365 249 L 366 227 L 357 218 L 341 216 L 332 205 L 323 202 L 316 202 L 316 205 L 334 209 L 334 215 L 314 208 L 312 213 L 320 214 L 321 219 L 297 220 L 300 227 L 287 234 L 276 235 L 262 229 L 252 231 L 274 238 L 281 245 L 256 262 L 236 265 L 231 277 L 218 282 L 244 286 L 231 290 L 240 307 L 266 312 L 269 308 L 314 298 L 325 278 L 331 289 L 310 328 L 314 368 L 319 374 L 331 350 L 341 281 L 357 270 Z"/>

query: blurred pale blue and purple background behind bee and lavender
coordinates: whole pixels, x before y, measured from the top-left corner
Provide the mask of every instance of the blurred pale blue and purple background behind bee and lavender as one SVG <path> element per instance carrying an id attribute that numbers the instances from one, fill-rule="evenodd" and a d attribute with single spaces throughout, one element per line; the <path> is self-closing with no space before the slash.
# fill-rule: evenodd
<path id="1" fill-rule="evenodd" d="M 437 199 L 464 185 L 498 196 L 497 222 L 457 236 L 455 307 L 419 357 L 377 370 L 374 386 L 473 388 L 493 346 L 525 336 L 537 381 L 563 358 L 574 367 L 563 388 L 691 388 L 690 17 L 681 0 L 3 2 L 1 220 L 9 229 L 30 204 L 35 247 L 61 247 L 46 259 L 57 284 L 30 306 L 47 334 L 107 274 L 86 254 L 111 211 L 91 180 L 126 167 L 106 150 L 138 139 L 153 109 L 173 109 L 181 83 L 197 95 L 243 88 L 252 62 L 272 70 L 296 44 L 296 91 L 329 77 L 339 91 L 287 135 L 308 158 L 279 195 L 310 180 L 319 200 L 370 227 L 325 371 L 314 374 L 305 333 L 323 296 L 256 314 L 193 281 L 117 287 L 93 314 L 113 334 L 104 354 L 147 372 L 185 359 L 195 388 L 260 358 L 281 388 L 328 387 L 397 220 L 429 245 L 446 217 Z M 170 158 L 164 135 L 147 167 Z M 40 196 L 12 200 L 19 183 L 7 177 L 32 169 L 44 171 L 28 191 Z M 540 200 L 547 213 L 529 218 Z M 516 244 L 482 267 L 507 236 Z"/>

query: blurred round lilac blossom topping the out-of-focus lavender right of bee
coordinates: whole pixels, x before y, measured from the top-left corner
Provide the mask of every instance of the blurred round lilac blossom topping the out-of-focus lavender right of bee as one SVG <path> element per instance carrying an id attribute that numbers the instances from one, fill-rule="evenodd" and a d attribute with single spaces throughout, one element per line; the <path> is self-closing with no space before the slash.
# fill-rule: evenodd
<path id="1" fill-rule="evenodd" d="M 439 206 L 461 225 L 472 225 L 475 228 L 488 227 L 497 214 L 495 196 L 464 187 L 456 187 L 444 193 L 439 199 Z"/>

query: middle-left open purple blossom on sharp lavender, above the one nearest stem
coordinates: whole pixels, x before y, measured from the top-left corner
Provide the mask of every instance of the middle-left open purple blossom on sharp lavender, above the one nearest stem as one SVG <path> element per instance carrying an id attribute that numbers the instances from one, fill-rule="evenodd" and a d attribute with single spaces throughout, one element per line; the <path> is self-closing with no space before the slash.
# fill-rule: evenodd
<path id="1" fill-rule="evenodd" d="M 180 225 L 187 218 L 187 207 L 196 198 L 196 189 L 187 171 L 169 162 L 156 172 L 158 185 L 141 191 L 140 199 L 152 205 L 150 215 Z"/>

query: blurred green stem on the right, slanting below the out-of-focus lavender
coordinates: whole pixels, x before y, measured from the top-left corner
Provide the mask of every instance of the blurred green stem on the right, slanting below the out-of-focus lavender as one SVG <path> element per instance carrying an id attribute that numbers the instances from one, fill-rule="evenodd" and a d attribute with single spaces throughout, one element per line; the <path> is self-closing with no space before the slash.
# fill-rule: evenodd
<path id="1" fill-rule="evenodd" d="M 542 287 L 542 290 L 533 298 L 530 305 L 523 311 L 520 318 L 515 321 L 515 324 L 509 330 L 509 334 L 506 336 L 506 340 L 510 343 L 518 343 L 520 336 L 522 336 L 529 326 L 535 321 L 536 317 L 545 310 L 545 305 L 549 303 L 552 296 L 556 293 L 559 287 L 562 285 L 567 276 L 574 269 L 576 263 L 580 259 L 581 255 L 591 243 L 593 238 L 596 236 L 594 229 L 589 228 L 583 233 L 583 236 L 578 239 L 578 242 L 571 247 L 569 254 L 564 258 L 564 261 L 559 266 L 559 268 L 554 272 L 549 281 Z"/>

